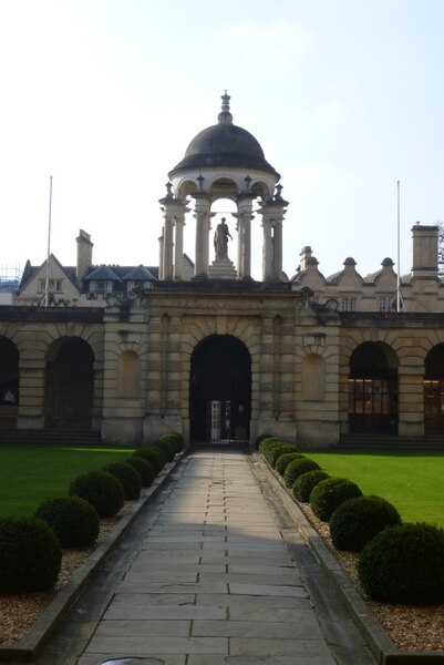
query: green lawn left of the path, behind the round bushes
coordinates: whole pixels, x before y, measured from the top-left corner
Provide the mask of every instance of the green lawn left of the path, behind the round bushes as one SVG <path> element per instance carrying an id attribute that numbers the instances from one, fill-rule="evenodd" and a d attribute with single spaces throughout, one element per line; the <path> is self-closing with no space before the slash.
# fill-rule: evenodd
<path id="1" fill-rule="evenodd" d="M 0 444 L 0 518 L 32 515 L 45 499 L 65 497 L 81 473 L 123 461 L 133 449 Z"/>

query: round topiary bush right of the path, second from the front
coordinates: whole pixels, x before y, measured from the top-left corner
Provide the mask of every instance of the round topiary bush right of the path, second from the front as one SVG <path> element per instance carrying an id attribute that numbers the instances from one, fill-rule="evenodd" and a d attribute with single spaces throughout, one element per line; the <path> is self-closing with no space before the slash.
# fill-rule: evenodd
<path id="1" fill-rule="evenodd" d="M 341 503 L 331 515 L 331 541 L 337 550 L 360 552 L 376 533 L 400 523 L 400 513 L 385 499 L 355 497 Z"/>

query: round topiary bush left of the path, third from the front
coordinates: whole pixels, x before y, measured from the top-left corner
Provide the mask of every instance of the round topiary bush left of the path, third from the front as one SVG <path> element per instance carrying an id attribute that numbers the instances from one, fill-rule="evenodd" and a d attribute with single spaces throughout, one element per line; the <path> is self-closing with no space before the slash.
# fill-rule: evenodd
<path id="1" fill-rule="evenodd" d="M 71 483 L 69 493 L 89 501 L 100 518 L 112 518 L 125 503 L 121 481 L 106 471 L 91 471 L 79 475 Z"/>

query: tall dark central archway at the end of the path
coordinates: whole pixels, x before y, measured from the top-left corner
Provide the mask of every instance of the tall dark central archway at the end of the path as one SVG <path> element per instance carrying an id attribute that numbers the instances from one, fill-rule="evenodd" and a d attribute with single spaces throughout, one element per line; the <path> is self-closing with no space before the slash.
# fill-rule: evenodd
<path id="1" fill-rule="evenodd" d="M 189 381 L 193 442 L 248 441 L 251 358 L 230 335 L 211 335 L 192 356 Z"/>

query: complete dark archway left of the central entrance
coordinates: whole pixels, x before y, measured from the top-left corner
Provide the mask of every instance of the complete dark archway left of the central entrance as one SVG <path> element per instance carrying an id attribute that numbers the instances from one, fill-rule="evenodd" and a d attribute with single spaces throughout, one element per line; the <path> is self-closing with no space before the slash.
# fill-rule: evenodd
<path id="1" fill-rule="evenodd" d="M 78 337 L 62 337 L 47 355 L 45 427 L 90 429 L 94 402 L 94 354 Z"/>

